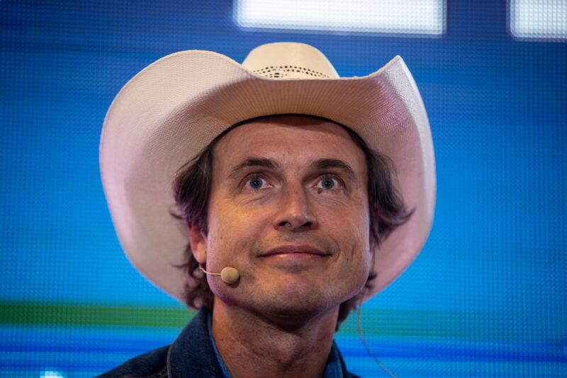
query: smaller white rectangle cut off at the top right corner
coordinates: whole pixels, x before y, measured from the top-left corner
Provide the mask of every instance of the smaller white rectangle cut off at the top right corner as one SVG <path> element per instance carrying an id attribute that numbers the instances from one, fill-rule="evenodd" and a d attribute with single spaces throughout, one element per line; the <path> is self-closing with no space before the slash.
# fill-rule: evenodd
<path id="1" fill-rule="evenodd" d="M 510 32 L 517 38 L 567 38 L 567 0 L 510 0 Z"/>

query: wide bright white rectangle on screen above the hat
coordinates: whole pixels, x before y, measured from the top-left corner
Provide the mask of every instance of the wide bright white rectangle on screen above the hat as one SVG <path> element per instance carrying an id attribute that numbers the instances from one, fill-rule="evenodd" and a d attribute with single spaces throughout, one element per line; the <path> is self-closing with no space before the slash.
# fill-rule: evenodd
<path id="1" fill-rule="evenodd" d="M 445 0 L 235 0 L 244 28 L 441 35 Z"/>

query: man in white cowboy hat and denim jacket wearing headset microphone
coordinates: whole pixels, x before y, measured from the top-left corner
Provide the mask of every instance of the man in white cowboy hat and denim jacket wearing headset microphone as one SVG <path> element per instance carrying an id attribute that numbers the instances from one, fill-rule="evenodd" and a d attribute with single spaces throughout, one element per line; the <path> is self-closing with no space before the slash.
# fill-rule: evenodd
<path id="1" fill-rule="evenodd" d="M 135 267 L 201 308 L 106 377 L 349 377 L 335 330 L 411 263 L 434 209 L 427 115 L 400 57 L 339 78 L 298 43 L 142 70 L 108 110 L 101 175 Z"/>

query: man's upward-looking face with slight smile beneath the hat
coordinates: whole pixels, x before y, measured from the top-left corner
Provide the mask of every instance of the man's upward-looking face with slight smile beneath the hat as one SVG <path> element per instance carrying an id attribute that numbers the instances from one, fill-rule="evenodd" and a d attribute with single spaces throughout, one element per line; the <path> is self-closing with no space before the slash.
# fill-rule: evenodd
<path id="1" fill-rule="evenodd" d="M 228 132 L 214 150 L 208 234 L 191 233 L 225 304 L 269 316 L 334 309 L 371 268 L 364 153 L 335 123 L 273 117 Z M 215 302 L 216 305 L 216 302 Z"/>

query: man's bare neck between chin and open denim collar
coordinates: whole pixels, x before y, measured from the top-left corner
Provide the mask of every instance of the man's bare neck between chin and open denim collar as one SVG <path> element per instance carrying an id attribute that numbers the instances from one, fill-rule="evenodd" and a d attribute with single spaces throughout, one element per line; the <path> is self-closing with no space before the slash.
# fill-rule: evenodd
<path id="1" fill-rule="evenodd" d="M 232 377 L 322 377 L 337 315 L 278 322 L 216 300 L 213 337 Z"/>

